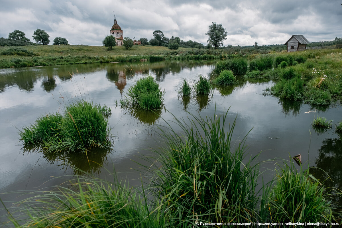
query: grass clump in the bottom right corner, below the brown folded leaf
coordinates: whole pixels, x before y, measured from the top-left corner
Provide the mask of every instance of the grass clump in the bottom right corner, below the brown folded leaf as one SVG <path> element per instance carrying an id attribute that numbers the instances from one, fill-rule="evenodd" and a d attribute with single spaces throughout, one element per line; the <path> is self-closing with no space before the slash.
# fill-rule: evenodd
<path id="1" fill-rule="evenodd" d="M 322 185 L 308 172 L 294 170 L 293 164 L 277 170 L 276 184 L 266 204 L 269 220 L 273 223 L 333 221 L 333 207 Z"/>

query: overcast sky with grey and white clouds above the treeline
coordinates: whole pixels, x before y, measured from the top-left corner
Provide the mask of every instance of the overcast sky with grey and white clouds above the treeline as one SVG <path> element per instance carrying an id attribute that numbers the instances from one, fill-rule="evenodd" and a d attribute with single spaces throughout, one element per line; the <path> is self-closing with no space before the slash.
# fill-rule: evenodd
<path id="1" fill-rule="evenodd" d="M 342 37 L 342 0 L 0 0 L 0 37 L 15 29 L 30 41 L 39 28 L 70 44 L 102 45 L 115 12 L 124 37 L 153 38 L 154 30 L 207 44 L 211 22 L 227 30 L 224 45 L 284 44 Z"/>

